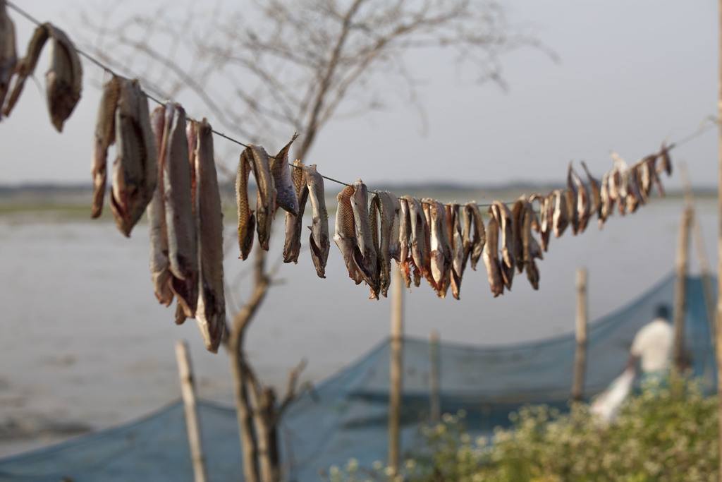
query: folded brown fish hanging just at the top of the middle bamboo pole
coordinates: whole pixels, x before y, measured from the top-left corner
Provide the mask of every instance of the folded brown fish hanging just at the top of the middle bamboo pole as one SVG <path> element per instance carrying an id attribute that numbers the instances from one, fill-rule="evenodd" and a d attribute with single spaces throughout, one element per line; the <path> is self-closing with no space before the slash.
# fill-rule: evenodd
<path id="1" fill-rule="evenodd" d="M 391 236 L 393 219 L 396 218 L 394 202 L 396 196 L 388 191 L 380 191 L 371 197 L 370 225 L 374 250 L 376 251 L 376 270 L 378 285 L 371 287 L 370 299 L 378 299 L 380 292 L 384 297 L 391 285 Z"/>

